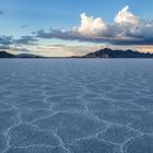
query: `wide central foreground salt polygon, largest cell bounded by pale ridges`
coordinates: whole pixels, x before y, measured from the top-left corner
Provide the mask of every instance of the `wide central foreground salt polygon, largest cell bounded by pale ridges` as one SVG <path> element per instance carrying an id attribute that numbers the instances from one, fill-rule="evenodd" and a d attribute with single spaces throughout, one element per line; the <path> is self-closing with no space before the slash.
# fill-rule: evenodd
<path id="1" fill-rule="evenodd" d="M 33 122 L 43 130 L 57 130 L 60 136 L 70 134 L 67 139 L 76 139 L 79 136 L 87 137 L 96 134 L 97 132 L 104 131 L 107 128 L 107 123 L 95 120 L 94 118 L 89 118 L 86 115 L 80 115 L 74 113 L 57 113 L 52 116 L 45 117 Z M 66 134 L 66 137 L 68 137 Z"/>

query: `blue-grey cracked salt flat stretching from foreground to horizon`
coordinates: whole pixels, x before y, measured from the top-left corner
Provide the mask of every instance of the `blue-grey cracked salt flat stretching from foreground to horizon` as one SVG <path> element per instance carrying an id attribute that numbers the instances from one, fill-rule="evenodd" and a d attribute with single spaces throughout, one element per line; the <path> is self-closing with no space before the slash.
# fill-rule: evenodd
<path id="1" fill-rule="evenodd" d="M 153 153 L 153 60 L 0 60 L 0 153 Z"/>

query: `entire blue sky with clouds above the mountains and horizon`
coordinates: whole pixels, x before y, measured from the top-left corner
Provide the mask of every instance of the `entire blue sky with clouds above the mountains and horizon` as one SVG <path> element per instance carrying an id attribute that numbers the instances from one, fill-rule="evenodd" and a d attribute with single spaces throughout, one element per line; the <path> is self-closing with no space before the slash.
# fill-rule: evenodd
<path id="1" fill-rule="evenodd" d="M 153 52 L 153 0 L 0 0 L 0 50 L 49 57 Z"/>

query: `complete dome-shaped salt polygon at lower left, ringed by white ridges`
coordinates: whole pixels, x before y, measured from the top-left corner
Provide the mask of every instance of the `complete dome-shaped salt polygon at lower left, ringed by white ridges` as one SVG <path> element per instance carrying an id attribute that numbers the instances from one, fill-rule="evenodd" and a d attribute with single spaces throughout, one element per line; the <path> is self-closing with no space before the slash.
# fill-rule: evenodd
<path id="1" fill-rule="evenodd" d="M 51 131 L 42 131 L 28 123 L 22 123 L 10 131 L 10 146 L 46 145 L 58 146 L 60 142 Z"/>

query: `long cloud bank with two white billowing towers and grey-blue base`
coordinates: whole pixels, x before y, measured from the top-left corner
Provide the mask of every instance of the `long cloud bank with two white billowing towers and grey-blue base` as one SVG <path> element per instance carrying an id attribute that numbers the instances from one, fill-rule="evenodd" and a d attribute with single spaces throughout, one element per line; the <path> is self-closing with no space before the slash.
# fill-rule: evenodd
<path id="1" fill-rule="evenodd" d="M 153 21 L 143 20 L 129 11 L 126 5 L 117 13 L 114 24 L 107 24 L 101 17 L 81 14 L 81 25 L 70 31 L 44 30 L 37 32 L 40 38 L 58 38 L 111 45 L 153 45 Z"/>

